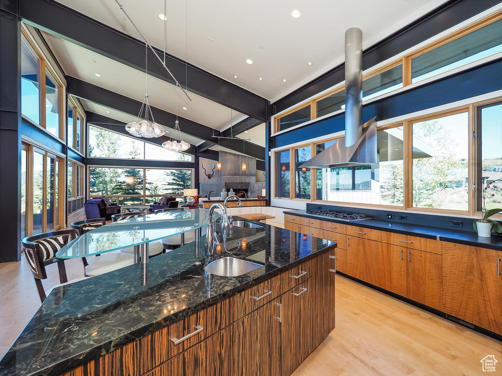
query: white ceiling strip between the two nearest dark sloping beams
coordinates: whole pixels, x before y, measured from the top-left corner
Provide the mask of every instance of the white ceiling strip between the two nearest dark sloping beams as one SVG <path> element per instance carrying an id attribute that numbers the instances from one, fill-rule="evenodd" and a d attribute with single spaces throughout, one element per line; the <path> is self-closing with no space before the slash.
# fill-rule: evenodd
<path id="1" fill-rule="evenodd" d="M 42 32 L 42 35 L 65 74 L 143 101 L 145 73 L 45 32 Z M 97 77 L 95 73 L 101 77 Z M 218 130 L 229 127 L 231 118 L 235 124 L 247 117 L 200 95 L 189 95 L 192 102 L 180 89 L 176 90 L 175 85 L 148 76 L 148 99 L 154 107 L 176 114 L 178 100 L 179 116 Z"/>

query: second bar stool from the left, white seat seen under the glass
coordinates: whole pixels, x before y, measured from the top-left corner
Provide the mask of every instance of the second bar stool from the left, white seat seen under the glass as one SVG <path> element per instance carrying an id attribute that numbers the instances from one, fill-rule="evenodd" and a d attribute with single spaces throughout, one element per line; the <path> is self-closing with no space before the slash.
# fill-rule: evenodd
<path id="1" fill-rule="evenodd" d="M 104 218 L 96 218 L 73 222 L 71 227 L 78 231 L 79 235 L 83 235 L 104 225 L 106 225 Z M 85 257 L 82 257 L 85 276 L 97 276 L 134 264 L 134 256 L 132 254 L 106 253 L 96 256 L 99 257 L 94 257 L 92 261 L 88 261 Z"/>

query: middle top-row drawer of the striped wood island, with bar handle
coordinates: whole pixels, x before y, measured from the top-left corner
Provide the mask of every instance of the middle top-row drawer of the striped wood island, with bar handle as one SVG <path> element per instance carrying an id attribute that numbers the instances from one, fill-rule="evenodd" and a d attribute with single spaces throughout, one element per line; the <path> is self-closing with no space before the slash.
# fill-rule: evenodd
<path id="1" fill-rule="evenodd" d="M 255 309 L 260 308 L 265 303 L 270 302 L 281 294 L 282 278 L 281 275 L 260 283 L 250 289 L 242 291 L 238 295 L 238 303 L 241 309 L 242 316 L 253 312 Z M 237 313 L 237 316 L 239 314 Z M 237 317 L 236 317 L 237 318 Z"/>

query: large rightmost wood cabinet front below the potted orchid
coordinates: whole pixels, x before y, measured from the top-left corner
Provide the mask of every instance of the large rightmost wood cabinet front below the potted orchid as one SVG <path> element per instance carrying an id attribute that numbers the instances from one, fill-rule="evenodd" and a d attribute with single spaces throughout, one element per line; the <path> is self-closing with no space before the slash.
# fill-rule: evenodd
<path id="1" fill-rule="evenodd" d="M 502 334 L 502 253 L 443 244 L 443 311 Z"/>

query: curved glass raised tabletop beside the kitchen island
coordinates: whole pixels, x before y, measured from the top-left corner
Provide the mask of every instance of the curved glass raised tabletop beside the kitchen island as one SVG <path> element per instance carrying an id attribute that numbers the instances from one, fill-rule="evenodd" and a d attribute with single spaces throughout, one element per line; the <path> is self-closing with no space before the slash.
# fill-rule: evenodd
<path id="1" fill-rule="evenodd" d="M 81 258 L 150 243 L 206 226 L 208 217 L 208 209 L 190 209 L 124 219 L 79 236 L 62 247 L 56 257 Z M 218 218 L 219 214 L 213 212 L 213 221 Z"/>

